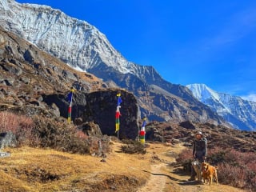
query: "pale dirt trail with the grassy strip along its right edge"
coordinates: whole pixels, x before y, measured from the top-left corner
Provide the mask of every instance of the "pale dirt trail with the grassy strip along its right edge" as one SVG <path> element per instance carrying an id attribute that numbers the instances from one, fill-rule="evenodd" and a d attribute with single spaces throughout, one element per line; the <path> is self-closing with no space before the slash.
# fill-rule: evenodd
<path id="1" fill-rule="evenodd" d="M 217 185 L 216 182 L 212 186 L 203 185 L 199 182 L 188 182 L 190 175 L 184 174 L 182 167 L 171 166 L 173 165 L 171 163 L 175 162 L 174 154 L 180 153 L 183 148 L 182 145 L 178 144 L 174 147 L 166 147 L 166 151 L 160 149 L 161 153 L 158 153 L 158 148 L 152 150 L 158 154 L 158 158 L 162 159 L 162 162 L 168 163 L 153 164 L 151 170 L 147 171 L 150 172 L 150 178 L 138 192 L 246 192 L 246 190 L 232 186 Z"/>

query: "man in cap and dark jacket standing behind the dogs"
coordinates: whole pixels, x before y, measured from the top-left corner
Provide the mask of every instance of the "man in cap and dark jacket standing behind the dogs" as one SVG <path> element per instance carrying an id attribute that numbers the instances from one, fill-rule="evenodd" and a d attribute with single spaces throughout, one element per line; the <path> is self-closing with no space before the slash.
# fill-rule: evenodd
<path id="1" fill-rule="evenodd" d="M 195 140 L 193 142 L 193 159 L 198 159 L 198 162 L 202 163 L 206 160 L 207 154 L 207 140 L 203 137 L 201 131 L 198 131 L 195 134 Z M 191 177 L 189 181 L 194 181 L 196 176 L 196 172 L 194 171 L 193 166 L 191 166 Z"/>

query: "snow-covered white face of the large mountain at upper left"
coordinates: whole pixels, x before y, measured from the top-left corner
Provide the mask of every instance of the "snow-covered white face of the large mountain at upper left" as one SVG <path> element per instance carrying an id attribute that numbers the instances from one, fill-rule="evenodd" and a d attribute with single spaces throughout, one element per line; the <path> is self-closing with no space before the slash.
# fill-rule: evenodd
<path id="1" fill-rule="evenodd" d="M 88 22 L 70 18 L 50 6 L 6 0 L 0 0 L 0 6 L 0 21 L 6 30 L 74 68 L 88 70 L 103 62 L 121 73 L 134 72 L 134 64 L 127 62 L 106 36 Z"/>

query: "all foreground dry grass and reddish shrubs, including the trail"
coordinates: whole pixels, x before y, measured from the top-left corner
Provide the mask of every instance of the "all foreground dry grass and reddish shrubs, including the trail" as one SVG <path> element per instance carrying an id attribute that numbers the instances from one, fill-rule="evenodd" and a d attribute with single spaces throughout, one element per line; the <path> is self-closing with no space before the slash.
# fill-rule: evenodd
<path id="1" fill-rule="evenodd" d="M 0 118 L 0 130 L 12 131 L 18 140 L 17 148 L 5 149 L 11 156 L 0 158 L 0 191 L 242 191 L 222 184 L 255 188 L 254 153 L 210 150 L 208 160 L 219 166 L 221 185 L 209 188 L 186 182 L 190 173 L 181 168 L 190 169 L 191 150 L 183 142 L 147 142 L 144 148 L 131 140 L 89 137 L 66 126 L 66 119 L 10 112 L 1 112 Z"/>

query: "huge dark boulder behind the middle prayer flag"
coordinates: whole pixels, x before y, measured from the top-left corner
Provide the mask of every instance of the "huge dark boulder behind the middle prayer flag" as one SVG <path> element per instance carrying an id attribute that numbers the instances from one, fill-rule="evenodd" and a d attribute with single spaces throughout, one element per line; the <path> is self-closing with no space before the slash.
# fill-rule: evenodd
<path id="1" fill-rule="evenodd" d="M 90 93 L 87 96 L 86 113 L 83 119 L 90 118 L 97 123 L 102 134 L 115 134 L 115 111 L 117 109 L 118 90 L 106 90 Z M 119 138 L 135 139 L 138 136 L 138 102 L 131 94 L 121 91 Z"/>

